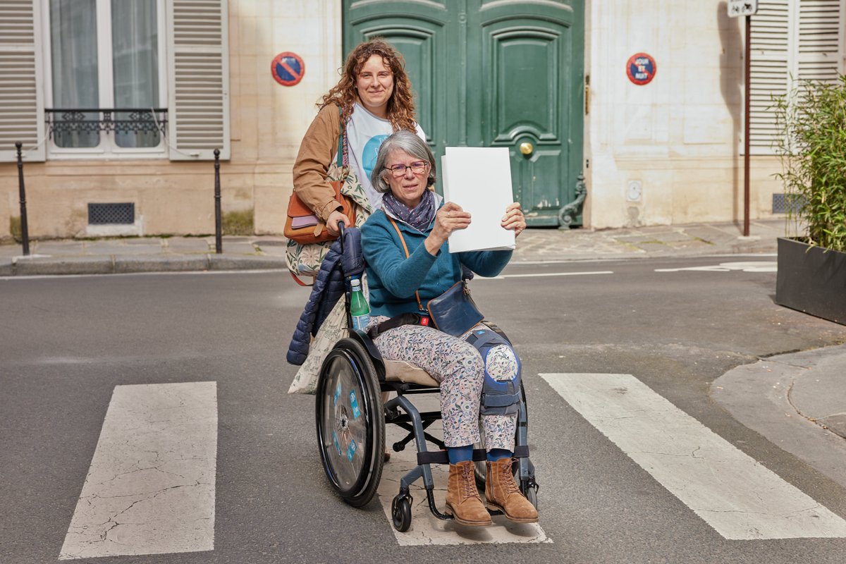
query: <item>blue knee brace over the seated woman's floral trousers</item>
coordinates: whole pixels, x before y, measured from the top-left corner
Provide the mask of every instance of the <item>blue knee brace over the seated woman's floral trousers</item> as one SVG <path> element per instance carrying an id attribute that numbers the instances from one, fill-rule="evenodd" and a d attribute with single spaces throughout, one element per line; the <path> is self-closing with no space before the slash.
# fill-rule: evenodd
<path id="1" fill-rule="evenodd" d="M 520 402 L 520 359 L 505 338 L 491 329 L 478 329 L 467 337 L 481 354 L 485 383 L 481 391 L 482 415 L 517 413 Z"/>

